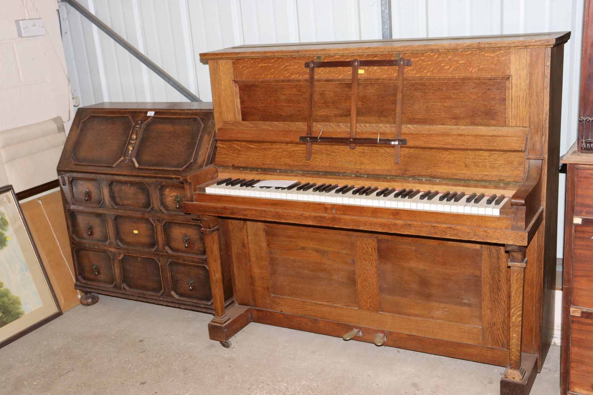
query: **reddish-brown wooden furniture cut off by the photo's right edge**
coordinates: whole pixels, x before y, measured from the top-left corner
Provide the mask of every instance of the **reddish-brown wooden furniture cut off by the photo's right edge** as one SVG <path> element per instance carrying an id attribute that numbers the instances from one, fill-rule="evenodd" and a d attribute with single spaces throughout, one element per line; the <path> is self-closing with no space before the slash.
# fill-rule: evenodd
<path id="1" fill-rule="evenodd" d="M 593 394 L 593 3 L 585 1 L 576 142 L 566 163 L 562 287 L 562 395 Z"/>

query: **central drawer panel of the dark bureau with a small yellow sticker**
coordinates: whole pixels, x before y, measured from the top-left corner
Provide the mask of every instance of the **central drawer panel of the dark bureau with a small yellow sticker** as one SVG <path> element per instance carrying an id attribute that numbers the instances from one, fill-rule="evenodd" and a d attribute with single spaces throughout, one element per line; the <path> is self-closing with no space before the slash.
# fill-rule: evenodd
<path id="1" fill-rule="evenodd" d="M 123 247 L 157 249 L 157 233 L 154 222 L 148 218 L 116 216 L 116 241 Z"/>

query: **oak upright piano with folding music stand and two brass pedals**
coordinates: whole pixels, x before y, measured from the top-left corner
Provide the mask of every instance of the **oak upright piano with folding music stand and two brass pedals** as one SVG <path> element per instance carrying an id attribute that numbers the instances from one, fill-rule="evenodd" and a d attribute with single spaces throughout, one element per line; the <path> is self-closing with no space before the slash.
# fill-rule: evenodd
<path id="1" fill-rule="evenodd" d="M 527 394 L 553 332 L 569 36 L 201 54 L 216 159 L 183 207 L 204 233 L 211 339 L 307 330 L 506 367 L 500 393 Z"/>

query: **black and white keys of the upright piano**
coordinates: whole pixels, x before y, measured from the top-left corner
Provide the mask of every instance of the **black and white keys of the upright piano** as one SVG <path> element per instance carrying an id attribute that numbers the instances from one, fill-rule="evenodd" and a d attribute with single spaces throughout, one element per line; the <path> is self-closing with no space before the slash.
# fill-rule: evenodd
<path id="1" fill-rule="evenodd" d="M 462 191 L 420 191 L 413 188 L 378 188 L 355 185 L 295 182 L 286 188 L 254 187 L 261 179 L 222 179 L 206 187 L 206 193 L 319 203 L 369 205 L 423 211 L 446 211 L 478 215 L 500 215 L 509 200 L 505 195 Z"/>

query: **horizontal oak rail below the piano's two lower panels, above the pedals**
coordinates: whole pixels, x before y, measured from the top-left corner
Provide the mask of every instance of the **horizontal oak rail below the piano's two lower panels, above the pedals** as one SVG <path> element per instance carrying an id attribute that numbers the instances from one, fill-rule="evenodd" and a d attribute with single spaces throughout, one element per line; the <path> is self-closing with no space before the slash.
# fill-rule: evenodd
<path id="1" fill-rule="evenodd" d="M 378 329 L 409 333 L 454 342 L 482 344 L 482 328 L 438 320 L 398 316 L 396 314 L 375 313 L 336 304 L 316 303 L 314 301 L 272 296 L 273 310 L 300 316 L 315 317 L 353 326 L 372 326 Z"/>

